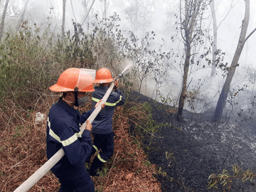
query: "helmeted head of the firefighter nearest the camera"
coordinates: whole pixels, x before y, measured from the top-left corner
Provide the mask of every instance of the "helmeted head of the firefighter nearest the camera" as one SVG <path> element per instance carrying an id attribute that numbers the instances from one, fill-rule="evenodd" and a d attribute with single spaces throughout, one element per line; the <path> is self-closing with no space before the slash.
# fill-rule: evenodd
<path id="1" fill-rule="evenodd" d="M 63 92 L 63 99 L 68 105 L 78 106 L 78 100 L 84 97 L 86 92 L 94 91 L 92 84 L 92 76 L 86 70 L 69 68 L 61 73 L 57 83 L 49 88 L 54 92 Z"/>

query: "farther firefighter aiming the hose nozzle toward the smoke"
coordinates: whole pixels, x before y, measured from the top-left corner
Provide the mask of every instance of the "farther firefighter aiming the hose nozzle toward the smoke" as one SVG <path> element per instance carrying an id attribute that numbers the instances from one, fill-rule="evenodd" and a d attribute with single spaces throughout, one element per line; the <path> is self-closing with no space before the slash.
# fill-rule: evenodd
<path id="1" fill-rule="evenodd" d="M 110 82 L 113 82 L 112 73 L 107 68 L 100 68 L 97 70 L 95 76 L 95 83 L 99 86 L 95 86 L 95 91 L 92 92 L 92 104 L 95 105 L 108 90 Z M 92 136 L 94 138 L 92 144 L 92 154 L 100 153 L 95 156 L 89 169 L 90 176 L 97 176 L 98 171 L 102 169 L 102 166 L 114 153 L 114 132 L 112 129 L 112 116 L 114 114 L 114 108 L 120 105 L 124 105 L 124 94 L 118 89 L 118 80 L 114 81 L 114 91 L 110 93 L 107 101 L 105 102 L 105 108 L 99 113 L 99 115 L 92 122 Z M 87 159 L 90 162 L 90 157 Z"/>

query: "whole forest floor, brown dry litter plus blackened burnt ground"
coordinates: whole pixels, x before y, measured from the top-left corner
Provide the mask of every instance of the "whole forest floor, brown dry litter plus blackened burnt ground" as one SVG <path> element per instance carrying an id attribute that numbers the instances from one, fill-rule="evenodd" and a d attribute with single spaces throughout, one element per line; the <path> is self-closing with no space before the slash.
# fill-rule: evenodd
<path id="1" fill-rule="evenodd" d="M 165 126 L 141 138 L 128 116 L 136 110 L 134 116 L 145 117 L 137 105 L 144 102 L 151 105 L 156 123 Z M 46 122 L 36 124 L 36 111 L 24 112 L 9 100 L 5 103 L 6 110 L 0 111 L 0 191 L 9 192 L 47 161 Z M 52 104 L 43 103 L 37 109 L 47 114 Z M 114 155 L 102 174 L 92 177 L 97 191 L 256 191 L 254 179 L 242 182 L 240 178 L 208 189 L 210 174 L 225 169 L 232 178 L 234 164 L 255 171 L 254 119 L 213 123 L 209 113 L 183 110 L 183 119 L 177 122 L 174 108 L 137 93 L 128 107 L 126 114 L 124 107 L 115 111 Z M 29 191 L 58 191 L 59 187 L 58 178 L 48 171 Z"/>

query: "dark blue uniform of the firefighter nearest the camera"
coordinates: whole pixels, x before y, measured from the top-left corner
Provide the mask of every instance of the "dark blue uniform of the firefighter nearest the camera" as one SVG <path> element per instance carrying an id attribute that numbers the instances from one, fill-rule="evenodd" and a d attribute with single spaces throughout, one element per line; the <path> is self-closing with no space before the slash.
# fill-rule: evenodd
<path id="1" fill-rule="evenodd" d="M 47 124 L 47 157 L 50 159 L 60 148 L 65 155 L 51 169 L 60 180 L 60 191 L 95 191 L 92 179 L 85 170 L 85 160 L 92 150 L 90 131 L 81 134 L 80 125 L 93 112 L 80 114 L 60 99 L 49 111 Z"/>

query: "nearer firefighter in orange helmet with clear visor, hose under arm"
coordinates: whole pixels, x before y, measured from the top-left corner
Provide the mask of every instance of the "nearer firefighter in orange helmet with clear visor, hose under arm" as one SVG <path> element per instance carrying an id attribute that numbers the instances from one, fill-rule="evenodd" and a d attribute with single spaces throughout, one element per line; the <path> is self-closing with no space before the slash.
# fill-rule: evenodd
<path id="1" fill-rule="evenodd" d="M 69 68 L 61 73 L 58 82 L 50 87 L 54 92 L 63 92 L 63 96 L 50 108 L 46 138 L 48 159 L 60 148 L 65 152 L 63 158 L 51 169 L 60 181 L 60 192 L 95 191 L 84 163 L 92 150 L 92 124 L 87 118 L 99 102 L 83 114 L 74 109 L 74 106 L 85 104 L 86 92 L 94 91 L 92 84 L 92 76 L 85 70 Z M 102 105 L 102 108 L 104 107 L 105 105 Z M 85 120 L 87 124 L 81 134 L 80 126 Z"/>

